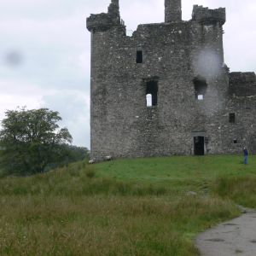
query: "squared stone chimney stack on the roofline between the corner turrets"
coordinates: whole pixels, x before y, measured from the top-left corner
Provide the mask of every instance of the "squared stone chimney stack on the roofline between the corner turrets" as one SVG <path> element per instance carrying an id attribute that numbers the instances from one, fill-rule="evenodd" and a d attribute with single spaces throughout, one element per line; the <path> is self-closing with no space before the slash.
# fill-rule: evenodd
<path id="1" fill-rule="evenodd" d="M 181 0 L 165 0 L 165 22 L 177 22 L 182 20 Z"/>

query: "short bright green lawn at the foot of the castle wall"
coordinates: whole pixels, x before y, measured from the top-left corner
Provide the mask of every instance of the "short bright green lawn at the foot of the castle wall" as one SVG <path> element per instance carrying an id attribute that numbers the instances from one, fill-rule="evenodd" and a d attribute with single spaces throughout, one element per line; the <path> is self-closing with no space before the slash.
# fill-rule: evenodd
<path id="1" fill-rule="evenodd" d="M 98 177 L 112 177 L 119 181 L 160 184 L 173 189 L 200 191 L 217 177 L 256 175 L 256 157 L 249 165 L 241 156 L 175 156 L 135 160 L 116 160 L 96 165 Z"/>

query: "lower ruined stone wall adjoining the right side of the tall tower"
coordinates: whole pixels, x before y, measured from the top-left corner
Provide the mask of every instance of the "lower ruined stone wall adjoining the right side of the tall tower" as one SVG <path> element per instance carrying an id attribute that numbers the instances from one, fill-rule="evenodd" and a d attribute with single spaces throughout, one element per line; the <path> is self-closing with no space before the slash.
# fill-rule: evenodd
<path id="1" fill-rule="evenodd" d="M 226 137 L 237 139 L 232 152 L 246 146 L 256 153 L 256 79 L 255 73 L 230 73 L 227 109 L 235 113 L 236 121 L 226 129 Z M 228 150 L 228 148 L 226 149 Z"/>

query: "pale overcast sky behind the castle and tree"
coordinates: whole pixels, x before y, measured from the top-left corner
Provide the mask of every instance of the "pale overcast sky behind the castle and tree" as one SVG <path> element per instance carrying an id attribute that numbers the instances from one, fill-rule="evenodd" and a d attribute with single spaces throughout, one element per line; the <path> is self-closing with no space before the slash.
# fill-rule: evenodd
<path id="1" fill-rule="evenodd" d="M 59 111 L 73 144 L 90 148 L 90 32 L 86 17 L 110 0 L 0 0 L 0 120 L 7 109 Z M 224 58 L 230 71 L 256 72 L 255 0 L 183 0 L 225 7 Z M 127 31 L 163 22 L 164 0 L 119 0 Z"/>

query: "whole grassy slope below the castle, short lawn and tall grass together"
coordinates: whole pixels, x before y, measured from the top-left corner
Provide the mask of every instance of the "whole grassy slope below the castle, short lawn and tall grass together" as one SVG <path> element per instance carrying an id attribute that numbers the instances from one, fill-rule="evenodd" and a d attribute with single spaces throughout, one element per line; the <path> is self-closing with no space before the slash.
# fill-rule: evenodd
<path id="1" fill-rule="evenodd" d="M 238 216 L 236 203 L 256 207 L 256 160 L 241 160 L 79 162 L 3 177 L 0 255 L 198 255 L 198 232 Z"/>

